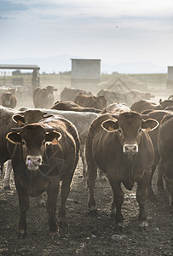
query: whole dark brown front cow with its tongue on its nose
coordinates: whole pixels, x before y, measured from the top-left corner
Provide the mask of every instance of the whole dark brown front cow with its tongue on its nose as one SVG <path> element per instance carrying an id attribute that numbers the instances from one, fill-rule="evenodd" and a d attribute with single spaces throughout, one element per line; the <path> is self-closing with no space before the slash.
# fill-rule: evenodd
<path id="1" fill-rule="evenodd" d="M 29 195 L 36 197 L 46 191 L 49 234 L 55 239 L 58 233 L 55 212 L 60 181 L 61 208 L 58 222 L 64 224 L 66 199 L 78 164 L 78 132 L 70 121 L 55 116 L 16 129 L 7 138 L 15 143 L 12 166 L 20 203 L 19 237 L 26 236 Z"/>

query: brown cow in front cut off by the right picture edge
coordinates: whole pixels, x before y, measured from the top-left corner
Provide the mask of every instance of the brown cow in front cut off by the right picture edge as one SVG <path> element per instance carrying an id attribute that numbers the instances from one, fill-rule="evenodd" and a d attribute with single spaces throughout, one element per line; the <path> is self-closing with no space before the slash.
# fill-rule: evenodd
<path id="1" fill-rule="evenodd" d="M 159 168 L 162 166 L 162 174 L 166 183 L 170 208 L 173 209 L 173 115 L 166 115 L 159 126 L 158 148 L 160 155 Z M 160 170 L 159 170 L 160 172 Z"/>

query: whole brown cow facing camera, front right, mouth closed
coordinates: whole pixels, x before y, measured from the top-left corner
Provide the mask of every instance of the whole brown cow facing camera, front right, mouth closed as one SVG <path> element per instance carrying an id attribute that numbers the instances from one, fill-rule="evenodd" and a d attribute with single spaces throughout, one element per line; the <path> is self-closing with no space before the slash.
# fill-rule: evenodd
<path id="1" fill-rule="evenodd" d="M 153 163 L 153 143 L 147 134 L 158 122 L 143 120 L 143 115 L 135 112 L 103 114 L 90 125 L 86 141 L 88 165 L 87 183 L 89 187 L 89 212 L 95 212 L 94 187 L 97 166 L 107 173 L 112 187 L 112 214 L 115 224 L 123 223 L 121 207 L 126 189 L 137 183 L 136 199 L 139 203 L 139 227 L 147 227 L 145 201 Z"/>

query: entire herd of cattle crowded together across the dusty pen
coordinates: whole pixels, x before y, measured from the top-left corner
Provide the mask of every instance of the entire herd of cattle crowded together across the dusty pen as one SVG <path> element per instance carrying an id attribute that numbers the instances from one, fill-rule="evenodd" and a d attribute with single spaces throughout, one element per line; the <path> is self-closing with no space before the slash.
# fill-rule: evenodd
<path id="1" fill-rule="evenodd" d="M 156 201 L 152 188 L 156 168 L 158 189 L 163 191 L 164 179 L 173 208 L 173 96 L 157 104 L 152 102 L 152 94 L 138 90 L 100 90 L 93 96 L 64 88 L 60 101 L 55 102 L 54 91 L 53 86 L 36 88 L 35 108 L 15 109 L 17 99 L 10 90 L 1 96 L 0 165 L 3 173 L 8 161 L 4 189 L 10 189 L 13 168 L 20 205 L 19 237 L 26 236 L 29 196 L 42 200 L 46 191 L 49 234 L 55 239 L 58 226 L 66 224 L 66 200 L 79 156 L 89 189 L 90 213 L 96 213 L 98 173 L 100 178 L 106 176 L 112 187 L 112 216 L 119 228 L 124 202 L 121 183 L 129 190 L 137 183 L 139 228 L 146 229 L 145 201 L 147 197 Z M 61 208 L 56 219 L 60 183 Z"/>

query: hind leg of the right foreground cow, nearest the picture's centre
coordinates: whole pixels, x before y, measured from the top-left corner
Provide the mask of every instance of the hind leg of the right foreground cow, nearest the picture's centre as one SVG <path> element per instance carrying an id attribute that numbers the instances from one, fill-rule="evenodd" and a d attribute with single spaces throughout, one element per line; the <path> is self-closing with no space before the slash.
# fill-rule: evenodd
<path id="1" fill-rule="evenodd" d="M 89 201 L 88 201 L 88 207 L 89 207 L 89 213 L 90 214 L 96 214 L 96 205 L 95 205 L 95 198 L 94 198 L 94 189 L 95 189 L 95 180 L 97 177 L 97 166 L 95 166 L 95 162 L 89 162 L 88 163 L 88 173 L 87 173 L 87 185 L 89 188 Z"/>

